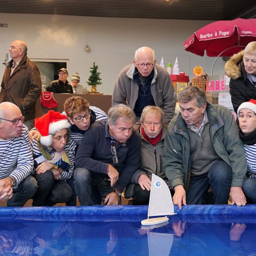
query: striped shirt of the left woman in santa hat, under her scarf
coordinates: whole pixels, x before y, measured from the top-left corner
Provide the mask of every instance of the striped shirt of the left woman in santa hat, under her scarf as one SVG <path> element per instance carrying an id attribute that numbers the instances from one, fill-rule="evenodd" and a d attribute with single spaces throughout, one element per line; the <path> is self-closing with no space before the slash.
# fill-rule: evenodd
<path id="1" fill-rule="evenodd" d="M 33 152 L 34 158 L 38 158 L 40 155 L 42 155 L 41 152 L 38 149 L 36 139 L 34 139 L 34 141 L 31 142 L 31 146 L 32 146 L 32 152 Z M 77 148 L 77 144 L 75 144 L 75 141 L 73 141 L 72 139 L 68 139 L 68 142 L 65 145 L 64 150 L 65 150 L 65 152 L 67 154 L 67 157 L 69 159 L 70 167 L 67 171 L 62 171 L 61 179 L 69 179 L 73 175 L 74 163 L 75 163 L 75 149 L 76 148 Z M 55 152 L 54 149 L 52 150 L 52 149 L 49 149 L 49 148 L 45 147 L 45 151 L 49 152 L 49 154 L 51 154 L 51 156 L 54 157 L 54 152 Z M 33 171 L 33 173 L 34 172 L 35 171 Z"/>

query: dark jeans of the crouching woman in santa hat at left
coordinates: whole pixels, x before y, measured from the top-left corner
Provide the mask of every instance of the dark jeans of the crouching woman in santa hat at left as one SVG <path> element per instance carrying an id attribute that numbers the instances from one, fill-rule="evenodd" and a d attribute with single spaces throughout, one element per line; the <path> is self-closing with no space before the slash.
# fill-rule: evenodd
<path id="1" fill-rule="evenodd" d="M 55 179 L 49 170 L 43 174 L 34 174 L 38 189 L 33 197 L 33 206 L 52 206 L 60 202 L 68 202 L 72 196 L 72 189 L 66 181 Z"/>

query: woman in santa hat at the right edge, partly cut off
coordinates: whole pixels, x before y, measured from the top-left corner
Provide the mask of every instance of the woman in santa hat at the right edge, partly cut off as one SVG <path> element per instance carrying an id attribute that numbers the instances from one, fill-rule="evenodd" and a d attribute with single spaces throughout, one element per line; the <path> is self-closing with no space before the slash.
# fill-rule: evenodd
<path id="1" fill-rule="evenodd" d="M 249 201 L 256 203 L 256 100 L 243 102 L 237 109 L 240 138 L 247 159 L 247 179 L 242 184 Z"/>

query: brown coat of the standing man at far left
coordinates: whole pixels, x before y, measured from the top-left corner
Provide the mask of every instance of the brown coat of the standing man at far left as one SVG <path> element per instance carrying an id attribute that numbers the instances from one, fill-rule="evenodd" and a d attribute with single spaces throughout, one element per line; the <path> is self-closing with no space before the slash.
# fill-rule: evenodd
<path id="1" fill-rule="evenodd" d="M 25 121 L 35 118 L 35 103 L 42 91 L 41 76 L 38 67 L 25 55 L 11 77 L 13 60 L 6 65 L 2 79 L 2 102 L 9 101 L 21 109 Z"/>

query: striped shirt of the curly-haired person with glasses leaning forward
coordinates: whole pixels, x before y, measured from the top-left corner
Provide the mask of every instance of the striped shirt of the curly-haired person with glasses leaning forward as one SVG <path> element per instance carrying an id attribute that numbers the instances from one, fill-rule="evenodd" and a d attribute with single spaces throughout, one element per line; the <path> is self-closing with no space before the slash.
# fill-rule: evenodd
<path id="1" fill-rule="evenodd" d="M 107 114 L 103 110 L 101 110 L 100 108 L 97 108 L 97 107 L 94 107 L 94 106 L 89 106 L 89 109 L 91 110 L 92 117 L 93 117 L 93 118 L 91 118 L 91 125 L 96 121 L 107 120 L 108 119 Z M 61 114 L 66 115 L 66 112 L 63 111 Z M 94 114 L 95 114 L 96 119 L 94 119 Z M 92 122 L 92 120 L 94 120 L 94 121 Z M 82 138 L 84 138 L 84 134 L 81 134 L 80 132 L 71 131 L 71 129 L 69 129 L 68 132 L 69 132 L 69 137 L 71 139 L 74 139 L 74 141 L 75 141 L 75 143 L 77 143 L 77 145 L 80 145 L 81 142 L 82 142 Z"/>

